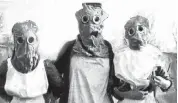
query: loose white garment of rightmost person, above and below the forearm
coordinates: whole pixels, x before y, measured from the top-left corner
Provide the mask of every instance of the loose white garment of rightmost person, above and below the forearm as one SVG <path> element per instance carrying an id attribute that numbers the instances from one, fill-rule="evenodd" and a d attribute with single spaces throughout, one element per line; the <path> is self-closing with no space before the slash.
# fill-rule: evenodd
<path id="1" fill-rule="evenodd" d="M 156 66 L 162 66 L 159 57 L 161 52 L 151 46 L 141 47 L 140 51 L 134 51 L 129 48 L 115 53 L 114 65 L 116 77 L 129 82 L 133 87 L 145 85 L 149 80 L 152 71 Z M 145 85 L 146 87 L 147 85 Z M 131 100 L 125 98 L 118 103 L 155 103 L 153 92 L 149 93 L 144 100 Z"/>

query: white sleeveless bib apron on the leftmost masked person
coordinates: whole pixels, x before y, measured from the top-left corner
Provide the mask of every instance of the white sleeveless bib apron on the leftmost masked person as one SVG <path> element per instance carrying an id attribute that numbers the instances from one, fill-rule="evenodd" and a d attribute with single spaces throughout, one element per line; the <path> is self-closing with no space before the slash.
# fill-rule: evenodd
<path id="1" fill-rule="evenodd" d="M 31 72 L 18 72 L 8 59 L 5 91 L 13 96 L 11 103 L 44 103 L 43 94 L 47 93 L 48 80 L 43 60 Z"/>

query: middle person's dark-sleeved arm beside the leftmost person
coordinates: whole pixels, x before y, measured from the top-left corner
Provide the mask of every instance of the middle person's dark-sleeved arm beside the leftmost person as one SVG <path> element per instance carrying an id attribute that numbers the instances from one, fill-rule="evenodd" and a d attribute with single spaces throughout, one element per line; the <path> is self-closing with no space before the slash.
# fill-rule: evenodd
<path id="1" fill-rule="evenodd" d="M 62 78 L 62 86 L 61 88 L 53 87 L 52 91 L 53 94 L 57 97 L 63 98 L 66 91 L 68 90 L 68 76 L 66 70 L 68 70 L 69 66 L 69 59 L 70 59 L 70 49 L 72 48 L 73 44 L 75 43 L 75 40 L 67 42 L 61 49 L 61 51 L 58 54 L 58 57 L 55 61 L 53 61 L 54 67 L 56 68 L 57 72 L 60 74 Z"/>

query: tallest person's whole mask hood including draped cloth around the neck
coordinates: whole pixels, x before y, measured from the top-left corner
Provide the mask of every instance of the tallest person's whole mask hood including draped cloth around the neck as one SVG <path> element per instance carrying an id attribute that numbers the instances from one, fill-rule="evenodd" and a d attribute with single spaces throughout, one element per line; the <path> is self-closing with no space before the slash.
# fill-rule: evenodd
<path id="1" fill-rule="evenodd" d="M 74 51 L 87 56 L 108 57 L 108 47 L 102 37 L 103 22 L 108 15 L 101 3 L 83 3 L 82 6 L 75 14 L 80 34 Z"/>

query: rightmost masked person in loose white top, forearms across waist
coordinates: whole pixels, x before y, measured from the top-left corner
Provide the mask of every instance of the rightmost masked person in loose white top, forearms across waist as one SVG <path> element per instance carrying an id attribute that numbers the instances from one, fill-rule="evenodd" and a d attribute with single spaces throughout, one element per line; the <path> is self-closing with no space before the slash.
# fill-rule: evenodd
<path id="1" fill-rule="evenodd" d="M 156 103 L 155 89 L 167 91 L 172 82 L 162 52 L 148 43 L 149 21 L 137 15 L 124 28 L 128 47 L 115 53 L 115 75 L 130 86 L 114 88 L 117 95 L 124 97 L 118 103 Z"/>

